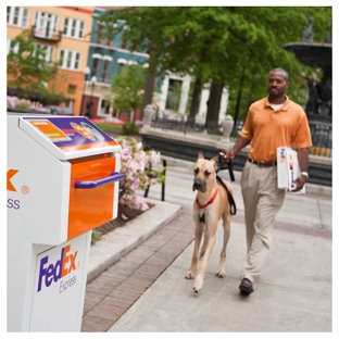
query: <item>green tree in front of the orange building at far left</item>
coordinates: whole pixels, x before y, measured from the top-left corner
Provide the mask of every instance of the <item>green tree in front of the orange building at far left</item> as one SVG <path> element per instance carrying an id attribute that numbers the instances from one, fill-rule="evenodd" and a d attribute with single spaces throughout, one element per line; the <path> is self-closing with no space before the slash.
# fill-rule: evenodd
<path id="1" fill-rule="evenodd" d="M 7 58 L 8 86 L 50 95 L 47 84 L 55 78 L 60 63 L 47 60 L 46 50 L 36 43 L 28 29 L 15 37 L 12 46 Z"/>

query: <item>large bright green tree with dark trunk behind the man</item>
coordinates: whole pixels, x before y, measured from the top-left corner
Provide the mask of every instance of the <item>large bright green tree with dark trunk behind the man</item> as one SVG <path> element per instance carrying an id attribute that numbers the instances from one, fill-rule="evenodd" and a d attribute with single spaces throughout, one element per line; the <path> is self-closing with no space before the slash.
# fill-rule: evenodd
<path id="1" fill-rule="evenodd" d="M 179 62 L 181 58 L 193 75 L 202 74 L 204 80 L 210 80 L 206 124 L 217 122 L 223 85 L 230 92 L 234 114 L 241 111 L 243 117 L 248 105 L 266 95 L 267 72 L 275 66 L 289 71 L 291 99 L 305 102 L 304 77 L 318 70 L 300 64 L 284 45 L 302 38 L 306 14 L 317 23 L 314 38 L 323 41 L 331 26 L 330 8 L 236 7 L 180 11 L 181 18 L 176 17 L 172 27 L 174 42 L 168 54 L 175 64 L 185 70 L 183 61 Z M 185 59 L 183 54 L 187 50 L 191 56 Z"/>

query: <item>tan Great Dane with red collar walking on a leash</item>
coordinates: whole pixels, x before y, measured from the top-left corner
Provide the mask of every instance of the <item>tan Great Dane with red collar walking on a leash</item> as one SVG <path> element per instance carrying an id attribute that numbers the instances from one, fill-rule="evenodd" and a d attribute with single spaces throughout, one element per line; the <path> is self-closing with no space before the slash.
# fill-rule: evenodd
<path id="1" fill-rule="evenodd" d="M 224 242 L 221 252 L 221 261 L 216 276 L 225 276 L 226 247 L 230 234 L 233 188 L 226 180 L 223 183 L 225 188 L 217 180 L 217 161 L 218 154 L 211 160 L 204 159 L 202 152 L 198 154 L 194 164 L 193 191 L 197 190 L 197 199 L 193 203 L 193 219 L 196 223 L 196 240 L 192 262 L 186 273 L 187 279 L 192 279 L 197 271 L 198 254 L 203 234 L 203 244 L 200 250 L 200 258 L 203 258 L 198 275 L 193 284 L 193 291 L 199 293 L 206 271 L 206 266 L 215 244 L 215 234 L 219 218 L 223 218 Z M 230 194 L 230 196 L 229 196 Z M 229 199 L 231 198 L 231 199 Z M 234 200 L 233 200 L 234 202 Z M 235 214 L 235 213 L 234 213 Z"/>

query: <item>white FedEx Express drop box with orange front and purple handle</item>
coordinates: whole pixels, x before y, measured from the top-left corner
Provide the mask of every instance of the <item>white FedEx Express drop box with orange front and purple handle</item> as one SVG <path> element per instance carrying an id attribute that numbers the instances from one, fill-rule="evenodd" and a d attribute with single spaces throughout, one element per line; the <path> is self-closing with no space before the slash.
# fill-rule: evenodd
<path id="1" fill-rule="evenodd" d="M 120 150 L 83 116 L 8 113 L 8 331 L 80 331 L 91 233 L 117 216 Z"/>

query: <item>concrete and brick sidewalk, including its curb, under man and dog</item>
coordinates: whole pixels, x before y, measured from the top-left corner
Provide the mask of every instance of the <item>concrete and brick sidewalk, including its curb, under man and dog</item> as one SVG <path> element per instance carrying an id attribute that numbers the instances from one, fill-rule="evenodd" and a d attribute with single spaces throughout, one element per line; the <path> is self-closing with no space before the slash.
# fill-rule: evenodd
<path id="1" fill-rule="evenodd" d="M 156 206 L 145 219 L 92 247 L 81 331 L 331 331 L 331 188 L 307 185 L 306 194 L 287 194 L 262 277 L 243 298 L 239 177 L 224 279 L 215 276 L 222 227 L 202 291 L 194 293 L 193 280 L 185 279 L 194 231 L 191 168 L 167 162 L 166 202 L 152 187 Z"/>

